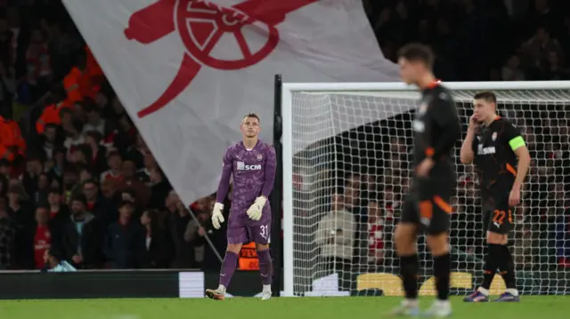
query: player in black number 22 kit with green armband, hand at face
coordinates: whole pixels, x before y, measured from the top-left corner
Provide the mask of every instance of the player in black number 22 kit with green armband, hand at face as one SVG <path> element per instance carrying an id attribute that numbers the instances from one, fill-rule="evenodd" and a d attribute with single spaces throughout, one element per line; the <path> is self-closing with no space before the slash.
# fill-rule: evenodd
<path id="1" fill-rule="evenodd" d="M 515 263 L 507 243 L 531 158 L 515 125 L 497 116 L 497 97 L 493 92 L 477 93 L 473 106 L 460 158 L 461 163 L 475 163 L 478 171 L 487 255 L 483 283 L 464 300 L 489 301 L 489 288 L 499 268 L 507 291 L 495 301 L 519 301 Z"/>

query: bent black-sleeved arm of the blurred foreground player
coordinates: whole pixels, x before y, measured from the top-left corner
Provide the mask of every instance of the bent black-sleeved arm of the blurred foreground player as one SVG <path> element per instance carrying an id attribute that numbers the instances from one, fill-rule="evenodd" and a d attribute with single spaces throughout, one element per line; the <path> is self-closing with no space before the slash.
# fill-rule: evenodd
<path id="1" fill-rule="evenodd" d="M 461 126 L 457 109 L 452 97 L 447 93 L 442 93 L 435 100 L 430 111 L 433 121 L 445 132 L 437 140 L 429 141 L 426 148 L 426 156 L 437 160 L 455 145 L 455 141 L 461 138 Z M 428 132 L 428 136 L 433 136 Z"/>

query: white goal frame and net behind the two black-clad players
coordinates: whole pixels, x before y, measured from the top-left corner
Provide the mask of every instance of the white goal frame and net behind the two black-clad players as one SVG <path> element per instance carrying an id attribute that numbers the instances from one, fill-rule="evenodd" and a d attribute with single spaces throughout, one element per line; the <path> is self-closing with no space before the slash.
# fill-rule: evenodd
<path id="1" fill-rule="evenodd" d="M 532 156 L 510 247 L 524 294 L 570 292 L 570 82 L 450 83 L 467 132 L 476 92 L 491 90 Z M 403 84 L 284 84 L 286 295 L 403 295 L 393 231 L 411 179 L 411 118 L 419 92 Z M 452 199 L 452 294 L 483 278 L 485 229 L 472 165 L 459 163 Z M 435 295 L 419 237 L 420 295 Z M 492 294 L 505 289 L 500 275 Z"/>

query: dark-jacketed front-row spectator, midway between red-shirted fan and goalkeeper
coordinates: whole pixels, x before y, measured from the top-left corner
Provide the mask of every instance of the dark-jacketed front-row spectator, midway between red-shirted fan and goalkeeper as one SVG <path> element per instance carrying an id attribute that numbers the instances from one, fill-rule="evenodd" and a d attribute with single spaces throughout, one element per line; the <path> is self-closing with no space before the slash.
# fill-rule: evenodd
<path id="1" fill-rule="evenodd" d="M 120 202 L 118 221 L 107 227 L 103 250 L 113 268 L 132 269 L 143 266 L 146 236 L 138 220 L 132 219 L 133 211 L 132 202 Z"/>

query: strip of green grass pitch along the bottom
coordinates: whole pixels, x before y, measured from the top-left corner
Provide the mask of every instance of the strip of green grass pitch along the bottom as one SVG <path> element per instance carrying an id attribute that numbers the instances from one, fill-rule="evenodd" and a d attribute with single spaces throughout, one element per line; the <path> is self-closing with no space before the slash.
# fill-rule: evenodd
<path id="1" fill-rule="evenodd" d="M 4 300 L 2 318 L 10 319 L 376 319 L 398 304 L 394 297 L 233 298 L 209 299 L 77 299 Z M 430 298 L 421 299 L 422 308 Z M 453 318 L 570 318 L 570 296 L 525 297 L 520 303 L 467 304 L 452 299 Z"/>

